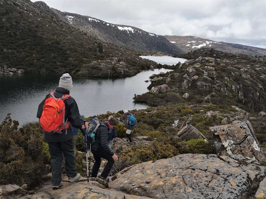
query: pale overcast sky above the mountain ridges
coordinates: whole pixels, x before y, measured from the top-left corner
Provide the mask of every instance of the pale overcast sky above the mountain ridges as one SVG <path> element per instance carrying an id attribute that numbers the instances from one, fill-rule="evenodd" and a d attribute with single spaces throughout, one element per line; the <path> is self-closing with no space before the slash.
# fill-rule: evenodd
<path id="1" fill-rule="evenodd" d="M 266 0 L 43 1 L 61 11 L 159 35 L 193 35 L 266 48 Z"/>

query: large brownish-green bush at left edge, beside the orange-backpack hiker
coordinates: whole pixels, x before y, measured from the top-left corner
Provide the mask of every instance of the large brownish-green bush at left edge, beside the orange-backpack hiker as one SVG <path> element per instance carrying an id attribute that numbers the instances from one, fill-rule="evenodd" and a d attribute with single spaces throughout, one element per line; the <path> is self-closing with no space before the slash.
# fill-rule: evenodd
<path id="1" fill-rule="evenodd" d="M 49 162 L 43 131 L 38 123 L 18 125 L 10 114 L 0 124 L 0 184 L 36 185 Z"/>

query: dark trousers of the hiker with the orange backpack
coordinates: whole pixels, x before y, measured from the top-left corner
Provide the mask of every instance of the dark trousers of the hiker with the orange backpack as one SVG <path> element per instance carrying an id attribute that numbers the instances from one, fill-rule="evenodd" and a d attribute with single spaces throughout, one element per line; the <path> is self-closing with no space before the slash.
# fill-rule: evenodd
<path id="1" fill-rule="evenodd" d="M 67 176 L 73 178 L 77 174 L 73 139 L 64 142 L 48 142 L 48 145 L 51 155 L 52 183 L 53 186 L 57 186 L 62 181 L 62 154 L 66 159 Z"/>

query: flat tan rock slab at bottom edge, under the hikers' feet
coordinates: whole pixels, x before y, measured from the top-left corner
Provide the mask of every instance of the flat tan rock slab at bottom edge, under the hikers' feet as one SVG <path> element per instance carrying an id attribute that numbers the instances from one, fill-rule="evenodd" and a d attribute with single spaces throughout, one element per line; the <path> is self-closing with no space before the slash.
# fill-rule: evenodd
<path id="1" fill-rule="evenodd" d="M 95 181 L 94 181 L 95 183 Z M 148 197 L 129 195 L 114 189 L 102 189 L 87 182 L 63 182 L 60 189 L 52 189 L 52 185 L 44 185 L 37 193 L 21 197 L 21 199 L 148 199 Z"/>

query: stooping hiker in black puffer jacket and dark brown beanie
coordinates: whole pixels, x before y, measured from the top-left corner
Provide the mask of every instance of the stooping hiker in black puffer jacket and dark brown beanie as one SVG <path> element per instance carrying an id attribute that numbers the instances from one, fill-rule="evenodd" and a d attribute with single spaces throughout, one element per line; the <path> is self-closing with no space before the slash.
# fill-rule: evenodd
<path id="1" fill-rule="evenodd" d="M 93 169 L 91 172 L 92 178 L 97 178 L 102 158 L 104 158 L 108 162 L 103 169 L 103 173 L 98 178 L 108 181 L 107 176 L 109 175 L 115 161 L 118 160 L 117 155 L 108 146 L 108 131 L 112 130 L 116 125 L 117 125 L 117 120 L 112 117 L 108 119 L 108 121 L 101 123 L 101 125 L 99 126 L 99 128 L 95 133 L 95 143 L 91 146 L 91 152 L 95 159 Z"/>

